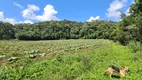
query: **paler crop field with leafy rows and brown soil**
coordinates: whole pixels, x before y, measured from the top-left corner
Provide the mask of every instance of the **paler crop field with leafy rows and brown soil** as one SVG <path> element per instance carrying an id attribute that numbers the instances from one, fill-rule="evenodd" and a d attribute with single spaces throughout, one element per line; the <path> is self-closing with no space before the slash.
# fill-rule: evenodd
<path id="1" fill-rule="evenodd" d="M 78 51 L 90 52 L 105 44 L 101 42 L 103 40 L 0 41 L 0 63 L 7 59 L 12 63 L 20 58 L 40 60 Z"/>

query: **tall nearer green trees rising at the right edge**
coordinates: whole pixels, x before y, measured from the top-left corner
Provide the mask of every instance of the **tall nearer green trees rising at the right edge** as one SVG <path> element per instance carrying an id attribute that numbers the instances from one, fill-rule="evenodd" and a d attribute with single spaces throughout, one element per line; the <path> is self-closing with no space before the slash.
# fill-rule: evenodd
<path id="1" fill-rule="evenodd" d="M 117 24 L 118 41 L 122 44 L 128 44 L 129 41 L 142 42 L 142 0 L 135 0 L 131 5 L 128 16 Z"/>

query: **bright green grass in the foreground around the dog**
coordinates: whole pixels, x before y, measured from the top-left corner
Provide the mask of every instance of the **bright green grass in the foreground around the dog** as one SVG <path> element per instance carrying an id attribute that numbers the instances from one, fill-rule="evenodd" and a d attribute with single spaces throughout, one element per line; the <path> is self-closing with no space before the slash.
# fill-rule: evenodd
<path id="1" fill-rule="evenodd" d="M 20 65 L 3 64 L 0 67 L 0 78 L 4 80 L 110 80 L 109 75 L 104 73 L 106 67 L 124 65 L 130 68 L 130 73 L 122 78 L 115 74 L 113 79 L 142 79 L 140 52 L 134 54 L 127 46 L 108 40 L 87 42 L 97 44 L 97 48 L 95 46 L 91 47 L 94 49 L 89 49 L 91 51 L 86 49 L 74 51 L 74 54 L 58 54 L 54 58 L 36 62 L 30 58 L 23 58 L 23 63 Z"/>

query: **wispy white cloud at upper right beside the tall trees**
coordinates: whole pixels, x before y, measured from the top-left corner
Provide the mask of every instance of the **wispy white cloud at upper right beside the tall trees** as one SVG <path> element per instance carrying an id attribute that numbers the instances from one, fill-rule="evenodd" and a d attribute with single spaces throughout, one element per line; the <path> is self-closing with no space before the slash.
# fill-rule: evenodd
<path id="1" fill-rule="evenodd" d="M 107 9 L 107 17 L 109 18 L 120 18 L 121 12 L 119 10 L 121 10 L 124 6 L 125 3 L 128 0 L 114 0 L 111 4 L 110 7 Z"/>

